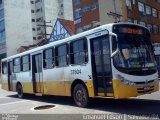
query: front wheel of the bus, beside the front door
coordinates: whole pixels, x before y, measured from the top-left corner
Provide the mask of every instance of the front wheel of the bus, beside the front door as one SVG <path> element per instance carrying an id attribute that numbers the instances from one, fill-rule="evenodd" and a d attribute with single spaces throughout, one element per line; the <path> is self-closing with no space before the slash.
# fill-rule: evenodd
<path id="1" fill-rule="evenodd" d="M 82 84 L 77 84 L 74 87 L 73 98 L 79 107 L 86 107 L 88 105 L 88 92 Z"/>

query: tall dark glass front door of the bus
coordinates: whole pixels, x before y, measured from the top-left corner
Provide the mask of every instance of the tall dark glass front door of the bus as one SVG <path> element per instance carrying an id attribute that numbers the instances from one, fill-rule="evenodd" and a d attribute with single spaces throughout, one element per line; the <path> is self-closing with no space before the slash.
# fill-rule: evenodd
<path id="1" fill-rule="evenodd" d="M 95 95 L 113 97 L 109 35 L 90 39 Z"/>

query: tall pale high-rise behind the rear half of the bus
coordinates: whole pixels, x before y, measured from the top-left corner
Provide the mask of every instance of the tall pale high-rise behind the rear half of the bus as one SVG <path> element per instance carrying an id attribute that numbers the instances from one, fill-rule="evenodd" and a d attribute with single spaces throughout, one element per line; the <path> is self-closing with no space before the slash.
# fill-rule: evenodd
<path id="1" fill-rule="evenodd" d="M 42 45 L 57 18 L 73 20 L 71 6 L 71 0 L 0 0 L 0 58 L 18 53 L 20 46 Z"/>

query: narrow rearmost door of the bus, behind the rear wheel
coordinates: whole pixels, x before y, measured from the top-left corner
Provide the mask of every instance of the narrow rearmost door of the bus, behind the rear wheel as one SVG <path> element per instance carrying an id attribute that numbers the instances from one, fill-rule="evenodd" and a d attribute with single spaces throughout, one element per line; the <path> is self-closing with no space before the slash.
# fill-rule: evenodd
<path id="1" fill-rule="evenodd" d="M 8 65 L 8 88 L 10 91 L 13 90 L 13 79 L 12 79 L 12 71 L 13 71 L 13 62 L 9 61 Z"/>

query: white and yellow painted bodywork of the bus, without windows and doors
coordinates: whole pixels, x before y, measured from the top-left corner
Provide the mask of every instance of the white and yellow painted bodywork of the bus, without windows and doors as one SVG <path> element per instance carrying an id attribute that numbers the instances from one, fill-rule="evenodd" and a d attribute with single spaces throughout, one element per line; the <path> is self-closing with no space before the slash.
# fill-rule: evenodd
<path id="1" fill-rule="evenodd" d="M 119 23 L 122 24 L 122 23 Z M 152 93 L 159 90 L 159 83 L 157 81 L 158 75 L 154 73 L 152 75 L 144 75 L 144 76 L 137 76 L 137 75 L 129 75 L 124 74 L 123 72 L 119 72 L 113 65 L 113 59 L 111 58 L 112 55 L 112 27 L 114 24 L 104 25 L 93 30 L 89 30 L 87 32 L 75 35 L 70 38 L 66 38 L 65 40 L 55 41 L 48 45 L 44 45 L 42 47 L 38 47 L 24 53 L 20 53 L 6 59 L 3 59 L 2 62 L 10 61 L 16 57 L 22 57 L 24 55 L 30 55 L 30 65 L 31 70 L 28 72 L 20 72 L 20 73 L 13 73 L 13 83 L 12 83 L 12 91 L 16 91 L 17 83 L 21 83 L 23 87 L 24 93 L 36 93 L 34 90 L 34 79 L 38 78 L 36 73 L 33 73 L 33 57 L 38 54 L 42 55 L 43 61 L 43 51 L 50 47 L 55 47 L 60 44 L 67 43 L 69 44 L 73 40 L 77 40 L 81 37 L 87 38 L 87 49 L 88 49 L 88 62 L 81 65 L 68 65 L 64 67 L 56 67 L 45 69 L 43 68 L 42 62 L 42 71 L 41 71 L 41 80 L 39 83 L 36 83 L 37 86 L 41 86 L 40 92 L 44 95 L 60 95 L 60 96 L 71 96 L 71 87 L 75 80 L 81 80 L 87 87 L 87 91 L 89 97 L 113 97 L 116 99 L 121 98 L 128 98 L 128 97 L 135 97 L 142 94 Z M 130 25 L 130 24 L 127 24 Z M 133 24 L 132 24 L 133 25 Z M 139 25 L 136 25 L 139 26 Z M 92 66 L 92 46 L 91 46 L 91 39 L 100 37 L 100 36 L 108 36 L 110 42 L 110 59 L 111 59 L 111 76 L 112 78 L 112 87 L 113 92 L 95 92 L 95 78 L 93 74 L 93 66 Z M 33 74 L 37 77 L 33 77 Z M 40 74 L 39 74 L 40 75 Z M 135 84 L 133 86 L 126 85 L 122 82 L 122 80 L 117 77 L 121 76 L 130 82 L 150 82 L 151 83 L 144 83 L 144 84 Z M 8 84 L 8 75 L 2 74 L 2 88 L 5 90 L 9 90 Z M 104 83 L 105 84 L 105 83 Z"/>

